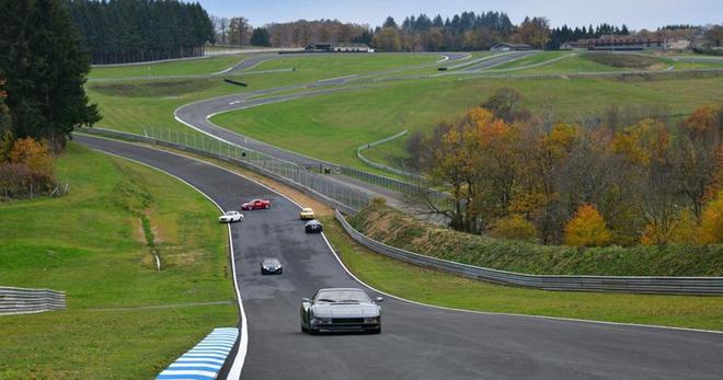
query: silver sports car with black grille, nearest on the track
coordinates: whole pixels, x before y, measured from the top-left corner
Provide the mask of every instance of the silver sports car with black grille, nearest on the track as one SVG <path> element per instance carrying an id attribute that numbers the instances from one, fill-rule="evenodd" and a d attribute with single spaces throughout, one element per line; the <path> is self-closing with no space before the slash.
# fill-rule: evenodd
<path id="1" fill-rule="evenodd" d="M 381 297 L 372 301 L 362 289 L 321 289 L 301 301 L 301 331 L 312 335 L 323 331 L 379 334 L 381 301 Z"/>

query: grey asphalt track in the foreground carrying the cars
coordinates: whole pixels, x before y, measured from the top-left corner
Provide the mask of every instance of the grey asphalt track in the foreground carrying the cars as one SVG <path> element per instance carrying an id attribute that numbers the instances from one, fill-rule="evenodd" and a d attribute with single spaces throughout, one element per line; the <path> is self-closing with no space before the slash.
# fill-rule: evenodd
<path id="1" fill-rule="evenodd" d="M 299 304 L 319 288 L 362 287 L 299 208 L 254 182 L 188 158 L 78 136 L 91 148 L 169 172 L 225 209 L 264 197 L 273 207 L 233 224 L 249 350 L 244 379 L 720 379 L 723 334 L 444 310 L 387 298 L 380 335 L 310 336 Z M 220 228 L 220 227 L 219 227 Z M 262 276 L 267 256 L 280 276 Z M 367 289 L 374 297 L 377 292 Z"/>

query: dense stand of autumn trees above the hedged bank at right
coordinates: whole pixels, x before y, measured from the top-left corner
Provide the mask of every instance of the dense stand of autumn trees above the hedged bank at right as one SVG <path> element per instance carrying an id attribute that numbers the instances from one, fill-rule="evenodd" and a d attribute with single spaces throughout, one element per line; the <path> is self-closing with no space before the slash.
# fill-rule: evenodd
<path id="1" fill-rule="evenodd" d="M 415 135 L 413 165 L 446 188 L 425 199 L 457 230 L 546 244 L 723 243 L 723 104 L 673 123 L 612 108 L 555 122 L 503 89 Z"/>

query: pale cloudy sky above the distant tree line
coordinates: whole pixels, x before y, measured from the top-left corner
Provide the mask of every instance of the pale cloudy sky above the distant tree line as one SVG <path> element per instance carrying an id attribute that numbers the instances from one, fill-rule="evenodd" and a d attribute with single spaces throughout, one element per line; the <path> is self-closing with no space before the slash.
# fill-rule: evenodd
<path id="1" fill-rule="evenodd" d="M 666 24 L 723 23 L 723 0 L 186 0 L 198 1 L 208 13 L 241 15 L 254 26 L 299 19 L 337 19 L 344 22 L 381 25 L 387 15 L 401 22 L 406 15 L 426 13 L 451 16 L 463 11 L 506 12 L 518 24 L 525 15 L 543 15 L 552 26 L 583 26 L 608 23 L 630 28 L 654 30 Z"/>

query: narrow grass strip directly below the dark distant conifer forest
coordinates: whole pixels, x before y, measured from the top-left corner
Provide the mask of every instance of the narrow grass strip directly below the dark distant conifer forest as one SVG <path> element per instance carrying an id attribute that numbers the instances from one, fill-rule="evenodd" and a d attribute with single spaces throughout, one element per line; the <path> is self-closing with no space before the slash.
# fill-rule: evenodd
<path id="1" fill-rule="evenodd" d="M 223 71 L 240 62 L 243 58 L 244 56 L 242 55 L 225 55 L 158 64 L 94 67 L 91 70 L 89 78 L 95 80 L 131 77 L 209 74 Z"/>

